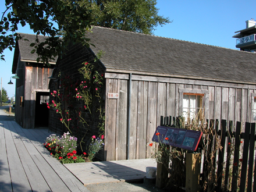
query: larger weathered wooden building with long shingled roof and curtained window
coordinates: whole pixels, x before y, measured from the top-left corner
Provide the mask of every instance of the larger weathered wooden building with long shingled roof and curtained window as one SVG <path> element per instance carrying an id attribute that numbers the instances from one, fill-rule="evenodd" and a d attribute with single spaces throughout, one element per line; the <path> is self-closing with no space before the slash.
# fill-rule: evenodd
<path id="1" fill-rule="evenodd" d="M 189 120 L 204 109 L 207 119 L 256 120 L 251 52 L 103 27 L 87 36 L 95 47 L 73 45 L 56 67 L 76 79 L 82 62 L 104 52 L 106 161 L 148 158 L 146 146 L 161 116 Z M 49 120 L 49 129 L 62 131 L 54 113 Z"/>

